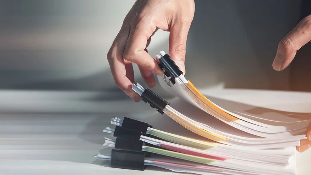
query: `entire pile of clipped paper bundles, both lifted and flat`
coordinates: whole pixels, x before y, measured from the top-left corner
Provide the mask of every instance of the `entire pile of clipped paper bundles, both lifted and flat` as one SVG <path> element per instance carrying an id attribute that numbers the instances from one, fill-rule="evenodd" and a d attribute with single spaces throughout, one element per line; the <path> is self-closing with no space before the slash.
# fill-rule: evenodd
<path id="1" fill-rule="evenodd" d="M 142 100 L 181 126 L 210 142 L 176 135 L 127 117 L 114 117 L 103 131 L 111 154 L 97 154 L 111 167 L 144 170 L 145 165 L 195 174 L 295 175 L 295 146 L 305 139 L 311 122 L 307 113 L 282 116 L 249 115 L 213 103 L 183 76 L 168 54 L 156 55 L 169 91 L 206 116 L 186 115 L 149 89 L 133 84 Z M 221 126 L 221 127 L 220 127 Z M 228 129 L 229 128 L 229 129 Z"/>

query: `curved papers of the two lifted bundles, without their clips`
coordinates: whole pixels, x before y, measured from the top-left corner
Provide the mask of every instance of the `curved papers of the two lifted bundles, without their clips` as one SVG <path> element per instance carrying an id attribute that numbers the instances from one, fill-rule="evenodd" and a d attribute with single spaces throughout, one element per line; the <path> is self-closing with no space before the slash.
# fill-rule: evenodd
<path id="1" fill-rule="evenodd" d="M 167 54 L 161 51 L 156 58 L 160 60 L 165 55 Z M 159 81 L 162 82 L 162 86 L 166 86 L 165 89 L 202 109 L 207 115 L 212 115 L 219 120 L 212 123 L 207 121 L 206 118 L 185 116 L 169 105 L 163 110 L 165 114 L 180 125 L 211 140 L 227 145 L 264 149 L 296 146 L 299 145 L 301 139 L 306 138 L 305 132 L 311 122 L 310 114 L 306 116 L 303 116 L 303 114 L 291 115 L 282 118 L 277 118 L 278 116 L 261 118 L 242 113 L 233 113 L 207 99 L 182 74 L 174 79 L 174 85 L 170 82 L 164 84 L 163 81 Z M 132 89 L 138 94 L 142 94 L 145 90 L 138 84 L 133 84 Z M 226 129 L 216 129 L 220 122 L 244 132 L 232 133 L 230 131 L 231 133 L 228 133 L 225 131 Z"/>

